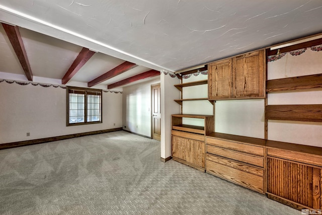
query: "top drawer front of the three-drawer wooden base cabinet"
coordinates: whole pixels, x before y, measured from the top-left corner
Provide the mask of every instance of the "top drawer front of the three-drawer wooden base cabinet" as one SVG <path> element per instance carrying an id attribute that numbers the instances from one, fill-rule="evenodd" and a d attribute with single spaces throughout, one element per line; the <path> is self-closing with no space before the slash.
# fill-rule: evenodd
<path id="1" fill-rule="evenodd" d="M 245 152 L 250 153 L 253 155 L 258 155 L 264 157 L 264 148 L 263 147 L 257 147 L 247 144 L 240 144 L 238 142 L 231 142 L 227 140 L 222 139 L 215 139 L 211 137 L 207 137 L 207 144 L 211 146 L 226 148 L 230 150 L 236 150 L 239 152 Z"/>

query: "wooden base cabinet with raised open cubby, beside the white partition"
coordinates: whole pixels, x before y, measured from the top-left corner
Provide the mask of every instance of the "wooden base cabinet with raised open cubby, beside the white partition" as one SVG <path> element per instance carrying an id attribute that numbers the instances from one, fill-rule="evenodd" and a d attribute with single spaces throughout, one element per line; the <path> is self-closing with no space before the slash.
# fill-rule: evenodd
<path id="1" fill-rule="evenodd" d="M 204 120 L 204 126 L 183 124 L 183 118 Z M 198 170 L 205 171 L 205 136 L 213 132 L 213 115 L 172 115 L 172 157 Z"/>

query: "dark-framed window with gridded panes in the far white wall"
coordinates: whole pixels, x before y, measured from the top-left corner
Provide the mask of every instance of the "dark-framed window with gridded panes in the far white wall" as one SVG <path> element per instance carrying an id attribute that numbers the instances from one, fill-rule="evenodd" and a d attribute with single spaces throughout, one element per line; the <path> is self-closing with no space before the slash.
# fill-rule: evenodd
<path id="1" fill-rule="evenodd" d="M 102 90 L 67 87 L 67 126 L 102 123 Z"/>

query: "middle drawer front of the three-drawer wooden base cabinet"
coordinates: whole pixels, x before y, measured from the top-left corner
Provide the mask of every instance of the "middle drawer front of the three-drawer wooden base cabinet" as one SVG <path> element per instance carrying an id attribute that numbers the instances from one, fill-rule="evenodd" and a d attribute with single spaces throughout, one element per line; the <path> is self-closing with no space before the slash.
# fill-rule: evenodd
<path id="1" fill-rule="evenodd" d="M 218 164 L 222 164 L 234 169 L 238 169 L 244 172 L 248 172 L 248 173 L 252 173 L 254 175 L 258 175 L 263 177 L 264 176 L 264 170 L 258 167 L 254 167 L 254 166 L 250 166 L 244 163 L 240 163 L 238 161 L 232 161 L 232 160 L 228 160 L 228 159 L 224 159 L 221 157 L 217 157 L 214 155 L 210 155 L 207 154 L 207 161 L 212 161 L 212 162 L 216 162 Z"/>

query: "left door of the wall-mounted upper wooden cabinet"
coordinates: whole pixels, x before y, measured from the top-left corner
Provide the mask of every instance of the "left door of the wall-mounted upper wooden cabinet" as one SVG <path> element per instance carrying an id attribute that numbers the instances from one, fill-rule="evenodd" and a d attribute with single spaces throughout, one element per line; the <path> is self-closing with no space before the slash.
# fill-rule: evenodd
<path id="1" fill-rule="evenodd" d="M 208 65 L 208 99 L 231 98 L 231 58 Z"/>

